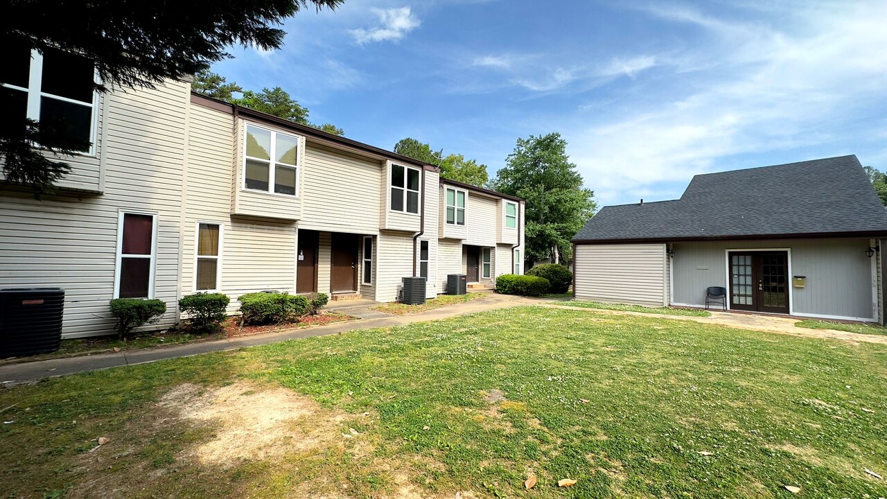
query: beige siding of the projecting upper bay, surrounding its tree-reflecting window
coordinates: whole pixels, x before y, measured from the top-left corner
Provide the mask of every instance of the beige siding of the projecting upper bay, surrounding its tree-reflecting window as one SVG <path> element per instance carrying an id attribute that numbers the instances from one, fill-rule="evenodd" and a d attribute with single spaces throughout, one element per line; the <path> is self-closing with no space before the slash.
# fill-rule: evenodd
<path id="1" fill-rule="evenodd" d="M 247 190 L 243 188 L 244 182 L 244 139 L 247 124 L 253 124 L 259 128 L 271 131 L 279 131 L 292 135 L 299 139 L 299 171 L 296 180 L 298 190 L 296 195 L 263 193 L 255 190 Z M 305 164 L 305 138 L 292 131 L 287 131 L 280 127 L 267 125 L 265 123 L 254 123 L 247 120 L 240 120 L 237 124 L 236 134 L 237 149 L 234 157 L 234 182 L 232 192 L 234 199 L 232 202 L 232 215 L 240 215 L 244 217 L 261 217 L 261 218 L 279 218 L 284 220 L 298 220 L 302 217 L 302 170 Z M 271 187 L 273 189 L 273 187 Z"/>

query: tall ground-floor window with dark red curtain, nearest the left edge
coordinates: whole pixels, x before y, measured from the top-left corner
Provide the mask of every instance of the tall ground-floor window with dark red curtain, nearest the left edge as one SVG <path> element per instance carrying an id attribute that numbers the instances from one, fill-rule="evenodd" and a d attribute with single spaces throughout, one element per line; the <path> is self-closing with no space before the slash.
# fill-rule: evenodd
<path id="1" fill-rule="evenodd" d="M 117 222 L 115 298 L 154 295 L 157 215 L 121 211 Z"/>

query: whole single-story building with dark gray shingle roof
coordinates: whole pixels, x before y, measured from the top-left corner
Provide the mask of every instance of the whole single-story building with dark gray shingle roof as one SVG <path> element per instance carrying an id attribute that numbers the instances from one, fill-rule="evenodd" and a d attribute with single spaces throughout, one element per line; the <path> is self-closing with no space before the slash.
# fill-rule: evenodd
<path id="1" fill-rule="evenodd" d="M 884 321 L 887 210 L 855 155 L 696 175 L 608 206 L 573 238 L 578 299 Z"/>

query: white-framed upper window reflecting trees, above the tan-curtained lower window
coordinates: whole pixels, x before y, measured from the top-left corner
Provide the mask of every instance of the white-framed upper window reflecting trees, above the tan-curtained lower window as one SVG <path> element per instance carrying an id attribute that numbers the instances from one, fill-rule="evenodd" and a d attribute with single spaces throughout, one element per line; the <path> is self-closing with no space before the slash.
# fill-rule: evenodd
<path id="1" fill-rule="evenodd" d="M 296 195 L 299 179 L 299 138 L 247 125 L 243 186 L 254 191 Z"/>

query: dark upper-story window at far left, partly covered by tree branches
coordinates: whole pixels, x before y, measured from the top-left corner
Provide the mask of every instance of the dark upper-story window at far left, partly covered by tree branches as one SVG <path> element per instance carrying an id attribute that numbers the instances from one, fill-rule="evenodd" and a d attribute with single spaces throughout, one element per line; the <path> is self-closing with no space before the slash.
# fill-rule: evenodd
<path id="1" fill-rule="evenodd" d="M 43 53 L 4 48 L 0 65 L 0 109 L 7 123 L 25 118 L 48 124 L 91 154 L 96 136 L 96 69 L 89 59 L 66 51 Z"/>

